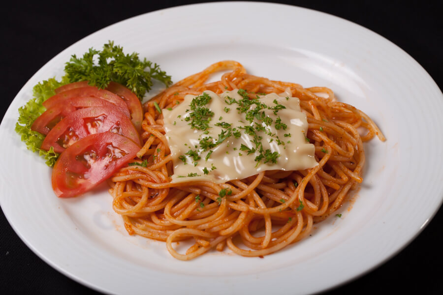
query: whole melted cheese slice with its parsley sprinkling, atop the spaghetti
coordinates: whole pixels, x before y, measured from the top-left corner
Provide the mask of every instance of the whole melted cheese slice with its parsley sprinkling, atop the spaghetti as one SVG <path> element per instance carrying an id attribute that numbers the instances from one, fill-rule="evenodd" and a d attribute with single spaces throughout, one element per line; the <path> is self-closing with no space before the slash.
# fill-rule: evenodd
<path id="1" fill-rule="evenodd" d="M 163 111 L 165 136 L 174 163 L 172 182 L 223 183 L 261 171 L 293 171 L 318 165 L 306 139 L 308 122 L 290 90 L 257 95 L 233 89 L 187 95 Z M 243 94 L 243 96 L 242 96 Z"/>

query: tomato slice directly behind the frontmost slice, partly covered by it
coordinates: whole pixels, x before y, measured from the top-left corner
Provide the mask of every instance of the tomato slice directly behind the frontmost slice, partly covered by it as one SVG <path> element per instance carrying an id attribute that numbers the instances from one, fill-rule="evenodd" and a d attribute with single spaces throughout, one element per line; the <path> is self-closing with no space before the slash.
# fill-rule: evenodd
<path id="1" fill-rule="evenodd" d="M 48 132 L 41 149 L 63 150 L 80 139 L 95 133 L 111 131 L 124 135 L 141 145 L 140 137 L 132 122 L 114 107 L 91 107 L 70 113 Z"/>

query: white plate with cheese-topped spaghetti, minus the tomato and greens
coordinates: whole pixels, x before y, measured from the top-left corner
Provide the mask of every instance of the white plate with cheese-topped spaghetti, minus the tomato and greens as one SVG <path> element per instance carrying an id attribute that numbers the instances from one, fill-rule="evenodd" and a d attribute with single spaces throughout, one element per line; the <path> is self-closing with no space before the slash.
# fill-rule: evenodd
<path id="1" fill-rule="evenodd" d="M 239 30 L 245 9 L 279 21 Z M 52 169 L 14 132 L 17 110 L 111 39 L 173 83 L 145 95 L 134 159 L 57 198 Z M 0 127 L 0 148 L 14 147 L 0 204 L 37 255 L 101 292 L 321 292 L 392 257 L 440 207 L 441 173 L 419 143 L 443 128 L 442 98 L 405 52 L 337 17 L 254 2 L 155 11 L 73 44 L 17 94 Z M 422 181 L 435 185 L 404 185 Z"/>

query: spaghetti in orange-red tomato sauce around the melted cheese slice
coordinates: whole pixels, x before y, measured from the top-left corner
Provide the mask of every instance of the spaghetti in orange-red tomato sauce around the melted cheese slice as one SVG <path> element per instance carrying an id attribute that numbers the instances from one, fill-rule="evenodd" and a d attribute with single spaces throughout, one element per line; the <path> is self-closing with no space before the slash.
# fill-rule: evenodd
<path id="1" fill-rule="evenodd" d="M 220 81 L 207 83 L 210 75 L 226 70 Z M 318 165 L 301 171 L 265 171 L 221 184 L 171 182 L 172 158 L 159 110 L 174 108 L 187 94 L 232 89 L 246 90 L 251 99 L 255 93 L 290 89 L 307 116 L 307 139 L 315 146 Z M 313 224 L 337 210 L 362 182 L 363 142 L 376 135 L 385 140 L 366 114 L 337 102 L 330 89 L 305 89 L 253 76 L 231 60 L 177 82 L 145 103 L 144 109 L 144 146 L 137 154 L 141 160 L 110 179 L 113 208 L 130 235 L 165 241 L 169 253 L 180 260 L 225 247 L 242 256 L 262 257 L 308 236 Z M 360 127 L 367 132 L 360 135 Z M 174 248 L 182 240 L 193 241 L 184 254 Z"/>

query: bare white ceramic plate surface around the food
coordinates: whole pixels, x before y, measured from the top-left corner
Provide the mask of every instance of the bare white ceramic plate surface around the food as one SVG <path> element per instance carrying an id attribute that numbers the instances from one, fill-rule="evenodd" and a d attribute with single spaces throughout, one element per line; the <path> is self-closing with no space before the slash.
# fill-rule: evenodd
<path id="1" fill-rule="evenodd" d="M 245 17 L 247 11 L 253 22 Z M 278 15 L 275 19 L 271 15 Z M 235 20 L 233 22 L 232 20 Z M 161 65 L 174 81 L 223 60 L 258 76 L 326 86 L 364 110 L 387 137 L 366 145 L 364 183 L 309 238 L 264 259 L 218 253 L 182 262 L 163 243 L 128 236 L 102 186 L 57 199 L 51 169 L 14 132 L 32 86 L 62 76 L 64 62 L 108 40 Z M 43 66 L 0 126 L 0 204 L 17 234 L 51 266 L 106 293 L 306 294 L 346 282 L 408 244 L 442 203 L 442 92 L 405 52 L 343 19 L 280 4 L 219 2 L 164 9 L 99 30 Z M 420 103 L 416 103 L 417 100 Z M 432 106 L 429 108 L 429 106 Z M 432 145 L 426 145 L 429 138 Z M 439 154 L 436 154 L 439 153 Z M 404 185 L 404 184 L 409 185 Z M 427 183 L 427 185 L 414 185 Z M 417 202 L 427 196 L 427 202 Z M 319 280 L 318 278 L 322 278 Z"/>

